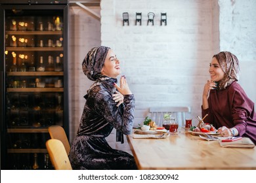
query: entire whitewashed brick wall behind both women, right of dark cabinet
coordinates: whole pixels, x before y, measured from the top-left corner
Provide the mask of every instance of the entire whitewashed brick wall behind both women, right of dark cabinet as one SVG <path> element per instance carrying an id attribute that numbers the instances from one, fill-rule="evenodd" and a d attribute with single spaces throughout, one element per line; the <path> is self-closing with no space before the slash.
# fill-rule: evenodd
<path id="1" fill-rule="evenodd" d="M 192 124 L 201 116 L 202 91 L 213 54 L 230 51 L 240 60 L 239 83 L 256 102 L 256 1 L 254 0 L 102 0 L 70 1 L 69 84 L 70 142 L 93 83 L 81 63 L 93 46 L 114 50 L 135 95 L 134 125 L 142 124 L 150 107 L 188 106 Z M 83 1 L 85 2 L 85 1 Z M 86 1 L 89 2 L 89 1 Z M 93 3 L 96 2 L 96 3 Z M 123 12 L 129 25 L 123 25 Z M 135 25 L 136 12 L 142 24 Z M 154 25 L 148 23 L 154 12 Z M 167 25 L 160 24 L 167 13 Z M 108 141 L 114 148 L 114 131 Z"/>

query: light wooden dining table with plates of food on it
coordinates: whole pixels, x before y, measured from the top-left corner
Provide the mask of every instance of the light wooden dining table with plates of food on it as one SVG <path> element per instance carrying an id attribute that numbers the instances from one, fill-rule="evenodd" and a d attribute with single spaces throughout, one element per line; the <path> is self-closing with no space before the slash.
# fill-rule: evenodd
<path id="1" fill-rule="evenodd" d="M 127 141 L 139 169 L 256 169 L 256 148 L 223 148 L 184 129 L 166 139 Z"/>

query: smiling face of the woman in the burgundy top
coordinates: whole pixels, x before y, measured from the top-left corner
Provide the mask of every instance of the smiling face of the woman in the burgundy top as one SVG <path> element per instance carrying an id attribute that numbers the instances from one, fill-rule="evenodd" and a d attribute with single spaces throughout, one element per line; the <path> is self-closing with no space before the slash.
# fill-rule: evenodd
<path id="1" fill-rule="evenodd" d="M 224 71 L 215 57 L 211 59 L 209 73 L 212 81 L 218 82 L 224 78 Z"/>

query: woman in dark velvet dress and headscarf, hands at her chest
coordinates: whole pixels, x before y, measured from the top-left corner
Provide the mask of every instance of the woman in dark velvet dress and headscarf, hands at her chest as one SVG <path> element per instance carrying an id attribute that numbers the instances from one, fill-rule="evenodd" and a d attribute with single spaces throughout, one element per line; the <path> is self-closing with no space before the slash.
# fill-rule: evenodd
<path id="1" fill-rule="evenodd" d="M 70 149 L 73 169 L 137 169 L 131 154 L 111 148 L 106 141 L 113 128 L 117 141 L 133 129 L 135 98 L 125 76 L 120 75 L 119 59 L 106 46 L 92 48 L 82 63 L 83 73 L 95 81 L 85 95 L 81 122 Z M 117 92 L 117 90 L 119 92 Z"/>

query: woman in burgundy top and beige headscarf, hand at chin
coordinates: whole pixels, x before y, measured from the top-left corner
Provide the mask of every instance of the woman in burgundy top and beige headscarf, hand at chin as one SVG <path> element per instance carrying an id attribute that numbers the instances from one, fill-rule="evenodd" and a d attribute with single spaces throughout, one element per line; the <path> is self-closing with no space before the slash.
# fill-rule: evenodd
<path id="1" fill-rule="evenodd" d="M 249 137 L 256 144 L 256 113 L 254 103 L 238 84 L 239 61 L 230 52 L 220 52 L 211 59 L 203 88 L 203 120 L 218 128 L 223 137 Z"/>

